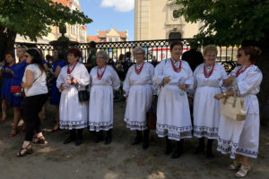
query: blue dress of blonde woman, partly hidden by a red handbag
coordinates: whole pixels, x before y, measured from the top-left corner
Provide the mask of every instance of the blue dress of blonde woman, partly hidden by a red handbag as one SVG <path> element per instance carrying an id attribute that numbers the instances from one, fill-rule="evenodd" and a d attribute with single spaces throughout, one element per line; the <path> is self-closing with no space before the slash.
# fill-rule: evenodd
<path id="1" fill-rule="evenodd" d="M 26 61 L 23 61 L 21 64 L 15 64 L 15 68 L 13 70 L 14 76 L 13 76 L 13 81 L 12 85 L 13 86 L 21 86 L 22 84 L 22 77 L 24 75 L 25 67 L 27 66 Z M 12 95 L 12 107 L 22 107 L 22 97 L 16 97 Z"/>

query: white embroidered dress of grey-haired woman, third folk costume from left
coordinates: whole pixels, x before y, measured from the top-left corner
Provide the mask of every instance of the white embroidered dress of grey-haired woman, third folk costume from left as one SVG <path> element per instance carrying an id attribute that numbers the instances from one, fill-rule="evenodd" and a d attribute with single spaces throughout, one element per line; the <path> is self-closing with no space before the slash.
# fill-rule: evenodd
<path id="1" fill-rule="evenodd" d="M 144 63 L 142 71 L 137 74 L 135 65 L 129 68 L 123 86 L 128 95 L 125 121 L 127 128 L 142 131 L 147 129 L 146 113 L 152 107 L 154 67 L 150 63 Z M 142 64 L 136 69 L 141 68 Z"/>

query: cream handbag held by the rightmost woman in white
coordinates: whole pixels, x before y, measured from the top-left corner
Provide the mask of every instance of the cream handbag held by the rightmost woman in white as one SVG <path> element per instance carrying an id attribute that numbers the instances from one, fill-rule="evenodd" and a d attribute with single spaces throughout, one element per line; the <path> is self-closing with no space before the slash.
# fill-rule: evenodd
<path id="1" fill-rule="evenodd" d="M 235 91 L 233 97 L 221 98 L 221 115 L 237 121 L 246 120 L 247 112 L 244 98 L 236 97 Z"/>

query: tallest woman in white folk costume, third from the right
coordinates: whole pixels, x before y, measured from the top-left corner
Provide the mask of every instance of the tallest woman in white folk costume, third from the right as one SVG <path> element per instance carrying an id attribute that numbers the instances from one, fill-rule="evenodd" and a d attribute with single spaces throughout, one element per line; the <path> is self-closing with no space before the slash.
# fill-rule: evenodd
<path id="1" fill-rule="evenodd" d="M 193 72 L 186 61 L 180 59 L 183 44 L 174 41 L 170 45 L 171 58 L 162 60 L 155 68 L 153 81 L 160 85 L 157 105 L 156 132 L 166 137 L 165 154 L 169 154 L 171 141 L 177 147 L 171 158 L 179 158 L 183 152 L 184 138 L 192 137 L 192 124 L 186 90 L 192 90 Z"/>

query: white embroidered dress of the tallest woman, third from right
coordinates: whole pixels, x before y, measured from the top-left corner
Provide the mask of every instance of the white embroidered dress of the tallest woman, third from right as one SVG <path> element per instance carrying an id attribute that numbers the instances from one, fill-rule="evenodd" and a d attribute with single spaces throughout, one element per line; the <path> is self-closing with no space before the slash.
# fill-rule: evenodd
<path id="1" fill-rule="evenodd" d="M 186 83 L 192 90 L 194 77 L 186 61 L 181 60 L 180 72 L 174 71 L 171 62 L 170 59 L 162 60 L 154 72 L 153 81 L 159 85 L 164 78 L 170 77 L 169 83 L 159 90 L 156 132 L 159 137 L 168 136 L 170 140 L 180 141 L 192 137 L 192 124 L 187 92 L 179 90 L 178 85 Z M 178 67 L 179 62 L 175 65 Z"/>

